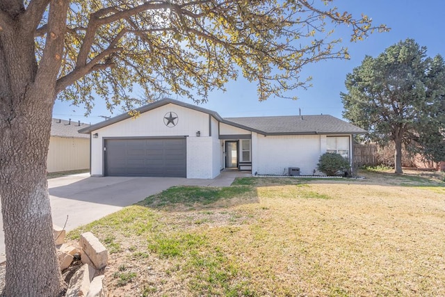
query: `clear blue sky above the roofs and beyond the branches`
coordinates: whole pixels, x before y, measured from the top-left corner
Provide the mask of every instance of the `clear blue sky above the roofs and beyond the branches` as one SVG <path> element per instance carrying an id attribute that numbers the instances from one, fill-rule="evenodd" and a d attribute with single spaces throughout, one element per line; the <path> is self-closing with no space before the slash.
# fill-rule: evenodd
<path id="1" fill-rule="evenodd" d="M 320 61 L 309 65 L 301 77 L 312 76 L 312 88 L 296 90 L 298 100 L 270 98 L 266 102 L 257 99 L 256 85 L 240 78 L 227 84 L 227 92 L 216 91 L 209 102 L 200 106 L 218 112 L 223 117 L 330 114 L 342 118 L 343 104 L 340 93 L 344 92 L 346 74 L 359 66 L 365 55 L 378 56 L 387 47 L 400 40 L 413 38 L 428 48 L 428 56 L 440 54 L 445 57 L 445 1 L 444 0 L 337 0 L 334 5 L 359 17 L 362 13 L 372 17 L 374 24 L 386 24 L 391 31 L 374 33 L 361 42 L 350 42 L 348 28 L 338 27 L 337 34 L 343 36 L 343 47 L 348 47 L 350 60 Z M 171 96 L 183 102 L 188 99 Z M 88 118 L 83 117 L 81 108 L 68 102 L 57 101 L 54 118 L 81 120 L 92 124 L 104 120 L 99 115 L 115 116 L 106 110 L 99 99 Z"/>

